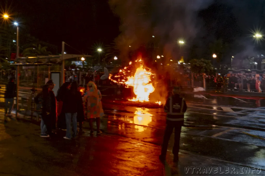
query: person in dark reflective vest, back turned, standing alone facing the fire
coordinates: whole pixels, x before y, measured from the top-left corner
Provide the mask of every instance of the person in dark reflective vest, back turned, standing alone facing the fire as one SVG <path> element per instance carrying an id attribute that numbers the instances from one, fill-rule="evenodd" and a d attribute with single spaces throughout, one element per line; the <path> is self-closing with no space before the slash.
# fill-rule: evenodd
<path id="1" fill-rule="evenodd" d="M 164 111 L 167 113 L 166 115 L 166 129 L 161 149 L 161 155 L 159 156 L 160 161 L 164 164 L 166 159 L 167 146 L 170 139 L 170 136 L 175 128 L 175 138 L 174 138 L 174 146 L 173 146 L 173 154 L 174 154 L 174 162 L 178 162 L 178 153 L 179 153 L 179 140 L 180 140 L 180 132 L 181 127 L 184 124 L 184 113 L 187 110 L 187 105 L 184 98 L 179 95 L 180 89 L 179 87 L 173 88 L 173 95 L 169 96 L 166 100 L 166 104 L 164 106 Z"/>

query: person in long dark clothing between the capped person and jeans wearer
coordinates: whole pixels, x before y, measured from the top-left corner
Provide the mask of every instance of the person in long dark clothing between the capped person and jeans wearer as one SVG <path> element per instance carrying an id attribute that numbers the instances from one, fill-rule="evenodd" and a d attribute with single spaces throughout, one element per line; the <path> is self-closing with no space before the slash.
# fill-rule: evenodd
<path id="1" fill-rule="evenodd" d="M 57 108 L 57 113 L 58 113 L 58 119 L 57 119 L 57 128 L 66 130 L 66 122 L 65 122 L 65 112 L 64 112 L 64 103 L 63 99 L 65 96 L 67 96 L 67 92 L 70 88 L 70 82 L 65 82 L 58 90 L 57 92 L 57 101 L 58 103 L 58 108 Z"/>

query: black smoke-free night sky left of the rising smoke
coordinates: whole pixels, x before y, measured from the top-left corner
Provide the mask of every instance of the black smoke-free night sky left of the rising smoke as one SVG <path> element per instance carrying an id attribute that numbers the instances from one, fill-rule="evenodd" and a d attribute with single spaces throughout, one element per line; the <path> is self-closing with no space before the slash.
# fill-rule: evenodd
<path id="1" fill-rule="evenodd" d="M 59 52 L 61 41 L 89 52 L 94 44 L 108 44 L 119 33 L 119 18 L 107 0 L 8 0 L 7 4 L 18 13 L 20 33 L 58 45 Z"/>

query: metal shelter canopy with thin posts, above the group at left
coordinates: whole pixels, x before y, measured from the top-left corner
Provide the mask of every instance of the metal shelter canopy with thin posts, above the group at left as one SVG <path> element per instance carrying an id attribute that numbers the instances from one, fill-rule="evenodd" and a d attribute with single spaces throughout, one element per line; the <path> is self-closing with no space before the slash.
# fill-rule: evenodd
<path id="1" fill-rule="evenodd" d="M 83 55 L 83 54 L 64 54 L 64 42 L 62 42 L 62 54 L 61 55 L 48 55 L 48 56 L 30 56 L 30 57 L 18 57 L 15 63 L 11 63 L 12 65 L 17 66 L 17 79 L 16 79 L 16 117 L 18 115 L 19 109 L 19 66 L 51 66 L 56 64 L 61 64 L 61 85 L 64 83 L 64 61 L 66 59 L 75 58 L 75 57 L 92 57 L 91 55 Z M 50 67 L 49 67 L 50 68 Z M 50 69 L 49 69 L 49 78 L 50 78 Z"/>

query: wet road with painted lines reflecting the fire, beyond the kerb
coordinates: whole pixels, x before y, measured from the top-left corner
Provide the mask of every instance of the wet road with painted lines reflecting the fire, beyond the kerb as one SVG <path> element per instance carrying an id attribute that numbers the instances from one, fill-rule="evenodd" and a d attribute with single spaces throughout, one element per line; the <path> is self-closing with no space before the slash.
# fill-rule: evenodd
<path id="1" fill-rule="evenodd" d="M 181 153 L 265 169 L 265 100 L 199 95 L 186 97 L 186 101 Z M 109 123 L 118 126 L 108 130 L 111 133 L 161 145 L 165 129 L 162 108 L 121 106 L 116 100 L 104 104 L 104 109 Z M 171 136 L 169 151 L 173 143 Z"/>

